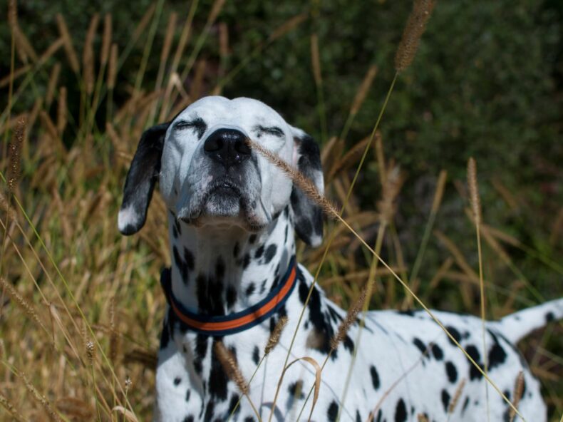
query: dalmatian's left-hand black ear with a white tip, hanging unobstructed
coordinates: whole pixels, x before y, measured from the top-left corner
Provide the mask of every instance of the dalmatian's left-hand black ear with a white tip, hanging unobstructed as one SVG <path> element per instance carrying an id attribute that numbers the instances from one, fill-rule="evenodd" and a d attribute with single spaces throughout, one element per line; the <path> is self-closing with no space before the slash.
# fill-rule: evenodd
<path id="1" fill-rule="evenodd" d="M 125 179 L 118 215 L 118 227 L 123 235 L 133 235 L 145 225 L 150 198 L 160 173 L 162 147 L 169 124 L 153 126 L 145 130 L 140 138 Z"/>

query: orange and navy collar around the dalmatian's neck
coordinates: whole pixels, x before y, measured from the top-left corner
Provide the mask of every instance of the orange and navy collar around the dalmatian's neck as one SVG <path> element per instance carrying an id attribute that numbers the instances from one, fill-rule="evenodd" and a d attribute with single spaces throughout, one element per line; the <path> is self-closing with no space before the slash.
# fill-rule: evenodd
<path id="1" fill-rule="evenodd" d="M 267 297 L 252 307 L 244 309 L 244 311 L 217 317 L 191 312 L 177 302 L 174 294 L 172 294 L 170 268 L 162 270 L 160 284 L 162 284 L 170 309 L 185 328 L 208 336 L 227 336 L 252 328 L 277 312 L 295 287 L 297 271 L 295 257 L 292 257 L 284 277 L 269 292 Z"/>

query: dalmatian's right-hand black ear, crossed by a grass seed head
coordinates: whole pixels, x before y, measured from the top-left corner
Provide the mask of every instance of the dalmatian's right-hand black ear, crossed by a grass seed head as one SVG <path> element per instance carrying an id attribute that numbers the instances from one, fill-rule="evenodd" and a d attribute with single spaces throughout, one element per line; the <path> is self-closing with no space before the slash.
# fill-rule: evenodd
<path id="1" fill-rule="evenodd" d="M 314 182 L 316 189 L 323 194 L 324 177 L 319 145 L 303 130 L 291 128 L 291 131 L 294 136 L 294 165 L 302 175 Z M 295 230 L 301 240 L 310 246 L 321 245 L 323 241 L 321 207 L 295 185 L 291 190 L 291 209 L 295 216 Z"/>

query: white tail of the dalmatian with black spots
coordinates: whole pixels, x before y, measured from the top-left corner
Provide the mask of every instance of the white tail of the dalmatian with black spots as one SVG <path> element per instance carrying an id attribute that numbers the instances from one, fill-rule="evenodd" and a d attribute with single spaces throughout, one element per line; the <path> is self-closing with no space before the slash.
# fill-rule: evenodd
<path id="1" fill-rule="evenodd" d="M 535 329 L 542 328 L 549 321 L 563 319 L 563 298 L 555 299 L 537 307 L 523 309 L 507 315 L 500 321 L 492 321 L 494 328 L 502 332 L 512 343 L 517 343 Z"/>

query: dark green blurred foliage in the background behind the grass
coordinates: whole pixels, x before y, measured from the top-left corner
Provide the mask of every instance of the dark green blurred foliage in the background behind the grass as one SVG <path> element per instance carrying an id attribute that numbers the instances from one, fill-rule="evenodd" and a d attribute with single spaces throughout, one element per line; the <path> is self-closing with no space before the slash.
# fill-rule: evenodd
<path id="1" fill-rule="evenodd" d="M 56 14 L 61 13 L 80 53 L 91 16 L 109 13 L 113 16 L 113 40 L 121 52 L 150 4 L 153 1 L 26 0 L 19 4 L 19 25 L 36 51 L 42 52 L 58 37 Z M 210 0 L 200 1 L 194 36 L 182 63 L 195 46 L 211 5 Z M 369 66 L 376 64 L 378 75 L 346 137 L 346 144 L 354 145 L 371 132 L 381 110 L 395 73 L 393 56 L 411 5 L 408 0 L 227 1 L 197 56 L 198 61 L 205 60 L 203 91 L 215 86 L 220 68 L 228 71 L 237 66 L 277 26 L 296 14 L 310 14 L 303 24 L 249 61 L 224 87 L 223 95 L 258 98 L 326 144 L 330 136 L 341 133 L 358 86 Z M 153 46 L 162 45 L 170 11 L 178 13 L 180 24 L 189 6 L 187 1 L 163 2 Z M 218 24 L 226 24 L 228 29 L 226 58 L 219 56 Z M 96 51 L 101 44 L 100 32 L 95 40 Z M 326 133 L 319 118 L 319 95 L 311 70 L 311 33 L 319 36 Z M 175 43 L 179 36 L 180 29 Z M 9 27 L 0 25 L 0 78 L 9 74 L 10 39 Z M 141 36 L 120 69 L 115 109 L 125 103 L 135 85 L 143 42 Z M 159 48 L 153 48 L 143 79 L 146 91 L 154 89 L 159 56 Z M 51 60 L 65 62 L 63 48 Z M 35 88 L 28 89 L 14 104 L 13 114 L 31 109 L 35 98 L 44 94 L 46 77 L 38 74 L 36 78 Z M 182 81 L 187 91 L 192 81 L 192 74 Z M 68 88 L 69 108 L 77 109 L 80 91 L 68 66 L 62 68 L 60 85 Z M 7 89 L 1 88 L 0 93 L 4 109 Z M 104 108 L 105 101 L 96 116 L 100 128 L 105 127 Z M 51 114 L 55 113 L 53 105 Z M 543 297 L 561 297 L 562 123 L 561 1 L 438 1 L 415 61 L 398 78 L 381 123 L 386 156 L 396 160 L 407 175 L 396 215 L 407 264 L 412 265 L 415 259 L 435 180 L 444 169 L 448 171 L 448 185 L 436 227 L 448 233 L 470 265 L 477 268 L 475 228 L 464 213 L 468 205 L 466 165 L 473 156 L 477 160 L 484 221 L 535 251 L 534 256 L 505 245 L 515 265 Z M 63 140 L 72 145 L 75 138 L 76 133 L 67 130 Z M 381 188 L 376 160 L 373 155 L 369 158 L 354 193 L 358 205 L 371 210 L 381 197 Z M 384 249 L 384 255 L 389 253 Z M 440 242 L 430 241 L 420 270 L 422 285 L 428 284 L 446 254 Z M 491 249 L 485 249 L 485 256 L 489 261 L 497 259 Z M 559 269 L 544 262 L 558 262 Z M 507 267 L 494 265 L 485 266 L 485 277 L 501 287 L 510 287 L 516 278 Z M 474 299 L 477 305 L 478 297 Z M 427 300 L 431 307 L 467 310 L 454 282 L 440 285 L 440 290 L 427 295 Z M 530 294 L 527 300 L 537 302 Z M 515 304 L 517 308 L 524 306 L 524 302 Z M 496 312 L 490 309 L 490 317 L 499 317 Z M 560 339 L 552 339 L 546 347 L 557 352 L 563 345 Z M 560 396 L 560 378 L 553 388 Z"/>

